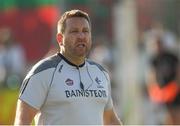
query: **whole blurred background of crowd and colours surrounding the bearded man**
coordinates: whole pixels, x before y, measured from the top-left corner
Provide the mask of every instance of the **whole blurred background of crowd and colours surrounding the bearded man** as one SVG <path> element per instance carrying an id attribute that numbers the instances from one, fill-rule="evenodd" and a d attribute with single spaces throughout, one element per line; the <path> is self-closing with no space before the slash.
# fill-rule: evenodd
<path id="1" fill-rule="evenodd" d="M 91 17 L 88 57 L 109 71 L 123 124 L 180 124 L 180 0 L 0 0 L 0 124 L 13 124 L 32 65 L 58 51 L 56 23 L 69 9 Z"/>

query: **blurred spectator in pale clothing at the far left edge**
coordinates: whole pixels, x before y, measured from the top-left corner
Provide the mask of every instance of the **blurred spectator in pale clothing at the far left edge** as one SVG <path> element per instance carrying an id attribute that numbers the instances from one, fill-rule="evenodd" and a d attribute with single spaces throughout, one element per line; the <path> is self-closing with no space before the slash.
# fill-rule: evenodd
<path id="1" fill-rule="evenodd" d="M 25 72 L 26 59 L 24 49 L 13 40 L 12 33 L 8 28 L 0 29 L 0 64 L 1 72 L 4 73 L 4 86 L 16 89 L 20 86 Z"/>

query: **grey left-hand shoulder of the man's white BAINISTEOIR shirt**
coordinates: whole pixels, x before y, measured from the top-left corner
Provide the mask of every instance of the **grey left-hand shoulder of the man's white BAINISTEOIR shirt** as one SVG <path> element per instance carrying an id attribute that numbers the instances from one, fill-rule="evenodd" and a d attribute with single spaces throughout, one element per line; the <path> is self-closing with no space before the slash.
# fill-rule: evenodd
<path id="1" fill-rule="evenodd" d="M 32 67 L 30 73 L 37 74 L 37 73 L 47 70 L 49 68 L 56 68 L 60 61 L 61 61 L 61 57 L 59 57 L 57 54 L 48 56 L 48 57 L 40 60 L 39 62 L 37 62 Z"/>

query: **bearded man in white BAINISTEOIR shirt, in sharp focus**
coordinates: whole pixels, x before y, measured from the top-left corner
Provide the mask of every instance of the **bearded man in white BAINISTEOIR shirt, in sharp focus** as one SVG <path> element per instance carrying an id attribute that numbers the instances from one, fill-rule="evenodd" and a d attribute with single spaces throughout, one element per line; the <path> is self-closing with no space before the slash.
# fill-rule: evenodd
<path id="1" fill-rule="evenodd" d="M 24 79 L 16 124 L 120 124 L 113 109 L 107 72 L 86 59 L 91 22 L 80 10 L 65 12 L 58 22 L 60 53 L 41 60 Z"/>

